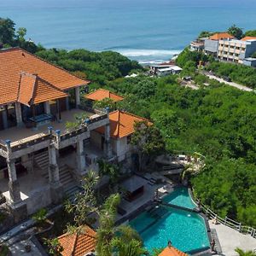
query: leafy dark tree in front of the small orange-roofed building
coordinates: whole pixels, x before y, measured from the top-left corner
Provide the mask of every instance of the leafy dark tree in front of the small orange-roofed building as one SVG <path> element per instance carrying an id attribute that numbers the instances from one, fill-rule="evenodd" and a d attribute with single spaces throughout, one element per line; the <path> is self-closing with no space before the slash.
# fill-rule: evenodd
<path id="1" fill-rule="evenodd" d="M 160 130 L 147 121 L 136 122 L 135 132 L 131 136 L 131 144 L 137 147 L 139 170 L 143 168 L 145 157 L 154 157 L 165 150 L 165 142 Z"/>

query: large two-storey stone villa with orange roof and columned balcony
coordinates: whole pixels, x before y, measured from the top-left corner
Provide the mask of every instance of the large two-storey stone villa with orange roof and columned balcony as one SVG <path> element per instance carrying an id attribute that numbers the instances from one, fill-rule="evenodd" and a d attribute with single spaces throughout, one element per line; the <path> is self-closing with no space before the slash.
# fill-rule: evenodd
<path id="1" fill-rule="evenodd" d="M 81 109 L 80 89 L 89 81 L 23 49 L 0 50 L 0 63 L 0 190 L 19 221 L 77 189 L 95 164 L 91 155 L 112 156 L 109 113 Z M 67 130 L 82 113 L 84 124 Z M 99 151 L 90 136 L 102 126 Z"/>

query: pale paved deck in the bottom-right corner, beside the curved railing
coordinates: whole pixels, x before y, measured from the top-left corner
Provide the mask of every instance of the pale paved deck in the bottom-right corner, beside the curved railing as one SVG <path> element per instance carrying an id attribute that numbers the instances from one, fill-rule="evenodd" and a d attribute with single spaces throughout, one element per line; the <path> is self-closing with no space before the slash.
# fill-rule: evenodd
<path id="1" fill-rule="evenodd" d="M 235 252 L 236 247 L 245 251 L 256 249 L 256 239 L 252 236 L 243 235 L 224 224 L 212 224 L 212 221 L 209 221 L 209 224 L 211 229 L 217 231 L 218 240 L 223 251 L 220 255 L 237 256 L 238 253 Z"/>

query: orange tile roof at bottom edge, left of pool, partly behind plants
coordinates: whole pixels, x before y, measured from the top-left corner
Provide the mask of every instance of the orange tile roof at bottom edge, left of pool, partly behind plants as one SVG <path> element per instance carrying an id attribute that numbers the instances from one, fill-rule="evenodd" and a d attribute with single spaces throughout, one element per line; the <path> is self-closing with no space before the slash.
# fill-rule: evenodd
<path id="1" fill-rule="evenodd" d="M 59 236 L 58 240 L 64 249 L 61 252 L 63 256 L 84 256 L 96 248 L 96 232 L 88 226 L 84 226 L 78 233 Z"/>

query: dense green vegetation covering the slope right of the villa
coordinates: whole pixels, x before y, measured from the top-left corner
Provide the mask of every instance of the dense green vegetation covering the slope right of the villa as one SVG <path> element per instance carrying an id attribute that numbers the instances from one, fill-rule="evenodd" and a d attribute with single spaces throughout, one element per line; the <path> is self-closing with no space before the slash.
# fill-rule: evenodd
<path id="1" fill-rule="evenodd" d="M 203 203 L 256 226 L 256 96 L 209 83 L 190 90 L 175 77 L 140 77 L 108 87 L 125 95 L 120 108 L 154 120 L 168 151 L 207 156 L 207 166 L 192 179 Z"/>

